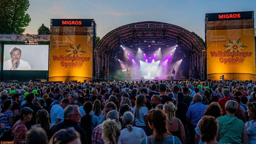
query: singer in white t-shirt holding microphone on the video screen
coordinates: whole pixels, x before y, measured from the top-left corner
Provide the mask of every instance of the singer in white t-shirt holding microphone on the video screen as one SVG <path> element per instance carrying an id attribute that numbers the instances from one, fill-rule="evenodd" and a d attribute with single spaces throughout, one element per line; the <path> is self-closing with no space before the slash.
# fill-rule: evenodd
<path id="1" fill-rule="evenodd" d="M 21 49 L 17 46 L 10 50 L 11 59 L 4 62 L 3 70 L 30 70 L 29 63 L 25 60 L 20 59 Z"/>

